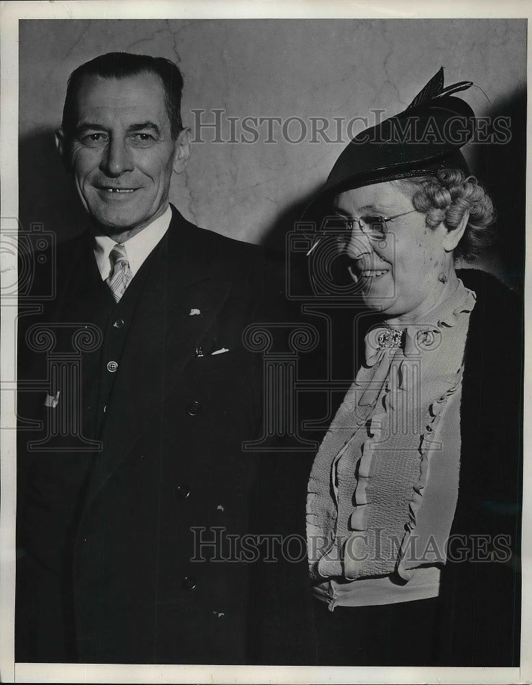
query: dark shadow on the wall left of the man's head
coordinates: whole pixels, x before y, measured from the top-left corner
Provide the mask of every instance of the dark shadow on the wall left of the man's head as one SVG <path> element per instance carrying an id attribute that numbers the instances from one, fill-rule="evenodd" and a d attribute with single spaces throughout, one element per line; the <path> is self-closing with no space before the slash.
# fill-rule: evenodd
<path id="1" fill-rule="evenodd" d="M 55 150 L 52 128 L 21 138 L 18 146 L 18 218 L 24 231 L 32 223 L 55 232 L 58 242 L 79 235 L 87 220 L 77 193 Z"/>

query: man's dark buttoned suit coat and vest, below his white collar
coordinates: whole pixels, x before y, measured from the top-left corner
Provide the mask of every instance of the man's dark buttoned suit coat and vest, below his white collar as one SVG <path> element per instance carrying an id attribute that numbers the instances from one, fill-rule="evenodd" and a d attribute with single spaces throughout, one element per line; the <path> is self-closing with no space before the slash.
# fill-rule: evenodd
<path id="1" fill-rule="evenodd" d="M 56 297 L 19 340 L 21 425 L 42 429 L 18 443 L 18 661 L 246 662 L 249 569 L 208 543 L 248 527 L 260 360 L 242 332 L 265 273 L 256 246 L 175 208 L 118 305 L 88 235 L 58 249 Z M 34 324 L 55 336 L 47 353 L 27 343 Z M 70 406 L 75 438 L 58 429 Z"/>

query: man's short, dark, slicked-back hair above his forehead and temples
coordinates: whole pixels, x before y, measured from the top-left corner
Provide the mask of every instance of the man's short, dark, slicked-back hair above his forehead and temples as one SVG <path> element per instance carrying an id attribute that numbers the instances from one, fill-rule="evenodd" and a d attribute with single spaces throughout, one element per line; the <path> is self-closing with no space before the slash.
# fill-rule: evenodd
<path id="1" fill-rule="evenodd" d="M 81 64 L 68 79 L 63 108 L 62 128 L 68 136 L 73 136 L 77 119 L 77 95 L 85 77 L 101 76 L 104 79 L 123 79 L 139 74 L 153 73 L 161 79 L 164 88 L 164 102 L 170 119 L 170 131 L 175 140 L 183 129 L 181 122 L 181 90 L 183 77 L 177 66 L 163 57 L 134 55 L 127 52 L 109 52 Z"/>

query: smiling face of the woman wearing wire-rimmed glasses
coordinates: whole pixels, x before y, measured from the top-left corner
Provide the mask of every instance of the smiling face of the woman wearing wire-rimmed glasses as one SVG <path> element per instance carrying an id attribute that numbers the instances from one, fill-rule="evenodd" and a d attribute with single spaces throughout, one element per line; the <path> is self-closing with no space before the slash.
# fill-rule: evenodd
<path id="1" fill-rule="evenodd" d="M 349 274 L 357 282 L 364 303 L 386 319 L 414 321 L 431 309 L 453 269 L 453 253 L 444 249 L 448 231 L 425 225 L 425 214 L 414 210 L 411 199 L 393 182 L 346 190 L 335 197 L 335 214 L 361 219 L 369 226 L 378 217 L 385 222 L 385 239 L 370 238 L 354 221 L 343 249 L 349 256 Z"/>

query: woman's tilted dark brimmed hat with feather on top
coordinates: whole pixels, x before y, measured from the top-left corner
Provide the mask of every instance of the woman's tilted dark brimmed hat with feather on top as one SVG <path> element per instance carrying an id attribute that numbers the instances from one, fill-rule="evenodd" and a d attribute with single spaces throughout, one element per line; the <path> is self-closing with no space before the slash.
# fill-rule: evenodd
<path id="1" fill-rule="evenodd" d="M 472 86 L 462 81 L 444 88 L 443 67 L 396 116 L 365 129 L 344 149 L 325 186 L 305 210 L 332 194 L 398 178 L 433 174 L 452 166 L 470 174 L 460 148 L 474 133 L 474 112 L 453 93 Z"/>

